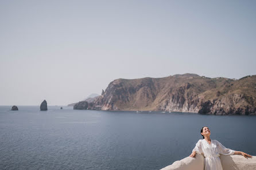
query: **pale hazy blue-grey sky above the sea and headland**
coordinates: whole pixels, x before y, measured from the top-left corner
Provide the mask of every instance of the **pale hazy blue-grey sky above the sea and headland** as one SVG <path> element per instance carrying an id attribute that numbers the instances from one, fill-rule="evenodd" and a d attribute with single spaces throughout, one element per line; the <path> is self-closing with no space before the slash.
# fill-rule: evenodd
<path id="1" fill-rule="evenodd" d="M 0 105 L 67 105 L 117 78 L 256 74 L 256 1 L 0 1 Z"/>

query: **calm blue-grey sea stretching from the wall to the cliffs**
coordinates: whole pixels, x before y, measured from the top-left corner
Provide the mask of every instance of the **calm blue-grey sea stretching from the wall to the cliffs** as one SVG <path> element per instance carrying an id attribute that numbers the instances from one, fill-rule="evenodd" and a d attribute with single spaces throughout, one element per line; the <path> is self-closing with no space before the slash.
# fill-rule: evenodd
<path id="1" fill-rule="evenodd" d="M 0 169 L 157 170 L 211 139 L 256 155 L 256 116 L 0 106 Z"/>

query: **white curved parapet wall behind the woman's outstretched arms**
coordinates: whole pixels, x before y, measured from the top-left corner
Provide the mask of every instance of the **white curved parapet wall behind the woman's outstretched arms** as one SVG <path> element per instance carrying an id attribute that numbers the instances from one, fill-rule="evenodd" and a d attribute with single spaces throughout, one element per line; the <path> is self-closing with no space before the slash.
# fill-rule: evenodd
<path id="1" fill-rule="evenodd" d="M 223 170 L 255 170 L 256 169 L 256 156 L 246 159 L 241 155 L 225 156 L 220 155 Z M 204 170 L 204 156 L 196 155 L 193 157 L 185 157 L 182 160 L 175 161 L 160 170 Z"/>

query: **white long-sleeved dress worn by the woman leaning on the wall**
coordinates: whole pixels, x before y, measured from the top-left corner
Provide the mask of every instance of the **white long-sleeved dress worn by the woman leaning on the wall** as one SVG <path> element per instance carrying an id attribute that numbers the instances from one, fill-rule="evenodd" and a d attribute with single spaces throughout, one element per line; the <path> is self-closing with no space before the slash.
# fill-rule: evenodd
<path id="1" fill-rule="evenodd" d="M 197 154 L 204 155 L 204 170 L 223 170 L 219 156 L 234 155 L 235 151 L 225 148 L 218 140 L 211 140 L 209 144 L 205 139 L 200 139 L 193 149 Z"/>

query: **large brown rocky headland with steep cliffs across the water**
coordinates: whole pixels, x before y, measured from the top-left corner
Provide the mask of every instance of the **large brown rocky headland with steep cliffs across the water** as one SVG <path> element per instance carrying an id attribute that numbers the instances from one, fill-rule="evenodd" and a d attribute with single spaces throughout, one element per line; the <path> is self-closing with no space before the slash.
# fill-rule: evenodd
<path id="1" fill-rule="evenodd" d="M 256 114 L 256 76 L 232 80 L 197 74 L 118 79 L 93 103 L 102 110 L 165 110 L 201 114 Z"/>

